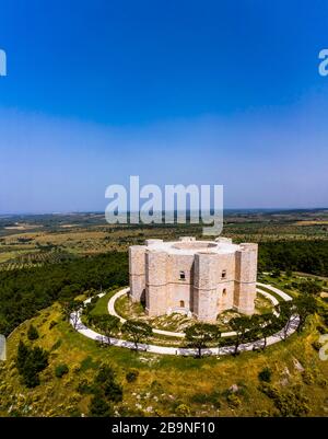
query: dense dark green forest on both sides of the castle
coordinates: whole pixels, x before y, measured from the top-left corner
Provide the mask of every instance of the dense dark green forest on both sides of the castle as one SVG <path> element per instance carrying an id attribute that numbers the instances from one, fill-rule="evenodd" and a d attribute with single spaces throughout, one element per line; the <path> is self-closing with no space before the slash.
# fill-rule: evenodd
<path id="1" fill-rule="evenodd" d="M 328 241 L 280 241 L 259 244 L 259 272 L 291 269 L 328 276 Z M 128 255 L 110 252 L 70 262 L 0 272 L 0 333 L 61 296 L 128 284 Z"/>

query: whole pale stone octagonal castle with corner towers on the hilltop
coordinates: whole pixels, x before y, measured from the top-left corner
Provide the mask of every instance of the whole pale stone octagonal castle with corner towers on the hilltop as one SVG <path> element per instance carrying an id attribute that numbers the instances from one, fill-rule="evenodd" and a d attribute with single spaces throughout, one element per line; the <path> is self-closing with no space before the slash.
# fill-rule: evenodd
<path id="1" fill-rule="evenodd" d="M 236 310 L 253 314 L 256 298 L 257 244 L 231 239 L 148 240 L 129 247 L 130 297 L 145 302 L 151 316 L 174 312 L 215 322 Z"/>

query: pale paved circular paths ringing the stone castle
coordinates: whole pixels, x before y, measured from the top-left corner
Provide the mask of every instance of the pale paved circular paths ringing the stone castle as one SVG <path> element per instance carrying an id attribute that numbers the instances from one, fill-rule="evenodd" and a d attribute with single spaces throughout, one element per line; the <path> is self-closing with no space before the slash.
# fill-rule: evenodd
<path id="1" fill-rule="evenodd" d="M 272 294 L 270 294 L 268 291 L 263 291 L 260 287 L 265 287 L 267 290 L 272 291 L 274 294 L 281 297 L 283 300 L 292 300 L 292 298 L 286 294 L 285 292 L 281 291 L 280 289 L 272 287 L 271 285 L 265 285 L 265 284 L 257 284 L 258 288 L 257 291 L 265 296 L 267 299 L 269 299 L 273 305 L 276 305 L 277 303 L 279 303 L 279 301 L 277 300 L 277 298 Z M 126 320 L 124 317 L 121 317 L 120 315 L 117 314 L 117 312 L 115 311 L 115 301 L 124 296 L 127 294 L 129 292 L 129 288 L 124 288 L 121 290 L 119 290 L 117 293 L 115 293 L 108 301 L 108 312 L 112 315 L 116 315 L 121 323 L 126 322 Z M 103 297 L 105 296 L 105 293 L 101 293 L 98 294 L 98 297 Z M 84 303 L 89 303 L 91 301 L 90 299 L 86 299 L 84 301 Z M 101 342 L 101 343 L 105 343 L 105 344 L 109 344 L 113 346 L 118 346 L 118 347 L 125 347 L 128 349 L 136 349 L 134 343 L 132 342 L 128 342 L 128 340 L 124 340 L 121 338 L 114 338 L 114 337 L 106 337 L 93 330 L 90 330 L 87 326 L 85 326 L 82 321 L 81 321 L 81 315 L 82 315 L 82 310 L 79 310 L 77 312 L 73 312 L 70 316 L 70 323 L 72 324 L 72 326 L 74 327 L 75 331 L 78 331 L 80 334 L 84 335 L 87 338 Z M 292 323 L 289 326 L 288 330 L 288 336 L 290 336 L 291 334 L 293 334 L 298 325 L 298 316 L 294 315 Z M 174 336 L 174 337 L 184 337 L 185 334 L 184 333 L 174 333 L 171 331 L 162 331 L 162 330 L 153 330 L 153 333 L 155 334 L 161 334 L 161 335 L 166 335 L 166 336 Z M 271 335 L 270 337 L 267 338 L 267 346 L 273 345 L 274 343 L 280 342 L 283 338 L 283 328 Z M 229 336 L 233 336 L 235 335 L 235 332 L 226 332 L 226 333 L 222 333 L 222 337 L 229 337 Z M 265 339 L 258 339 L 256 342 L 251 342 L 251 343 L 245 343 L 242 344 L 238 348 L 239 351 L 245 351 L 245 350 L 254 350 L 256 348 L 261 347 L 265 344 Z M 149 345 L 149 344 L 138 344 L 138 350 L 142 350 L 142 351 L 148 351 L 148 353 L 152 353 L 152 354 L 164 354 L 164 355 L 183 355 L 183 356 L 195 356 L 197 355 L 197 349 L 194 348 L 181 348 L 181 347 L 166 347 L 166 346 L 157 346 L 157 345 Z M 234 353 L 234 346 L 223 346 L 220 348 L 206 348 L 202 349 L 202 355 L 227 355 L 227 354 L 233 354 Z"/>

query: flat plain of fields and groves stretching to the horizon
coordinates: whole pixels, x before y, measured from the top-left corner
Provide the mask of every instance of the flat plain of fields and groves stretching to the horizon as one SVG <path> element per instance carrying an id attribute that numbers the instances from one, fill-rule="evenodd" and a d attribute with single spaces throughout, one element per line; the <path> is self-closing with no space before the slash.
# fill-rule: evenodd
<path id="1" fill-rule="evenodd" d="M 328 210 L 226 211 L 224 235 L 236 242 L 328 240 Z M 304 227 L 300 227 L 300 224 Z M 148 238 L 201 238 L 200 224 L 107 224 L 103 213 L 0 217 L 0 269 L 51 262 L 61 255 L 127 251 Z M 49 253 L 49 254 L 48 254 Z M 24 255 L 24 258 L 22 257 Z M 26 262 L 27 261 L 27 262 Z"/>

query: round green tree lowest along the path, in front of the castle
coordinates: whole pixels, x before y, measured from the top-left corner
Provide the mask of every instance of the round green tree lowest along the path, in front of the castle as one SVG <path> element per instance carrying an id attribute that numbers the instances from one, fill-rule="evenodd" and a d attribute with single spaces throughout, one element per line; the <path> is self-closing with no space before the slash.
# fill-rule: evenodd
<path id="1" fill-rule="evenodd" d="M 204 349 L 209 343 L 216 342 L 219 336 L 219 328 L 215 325 L 209 323 L 195 323 L 186 328 L 186 342 L 192 348 L 198 350 L 198 357 L 201 358 L 202 349 Z"/>

